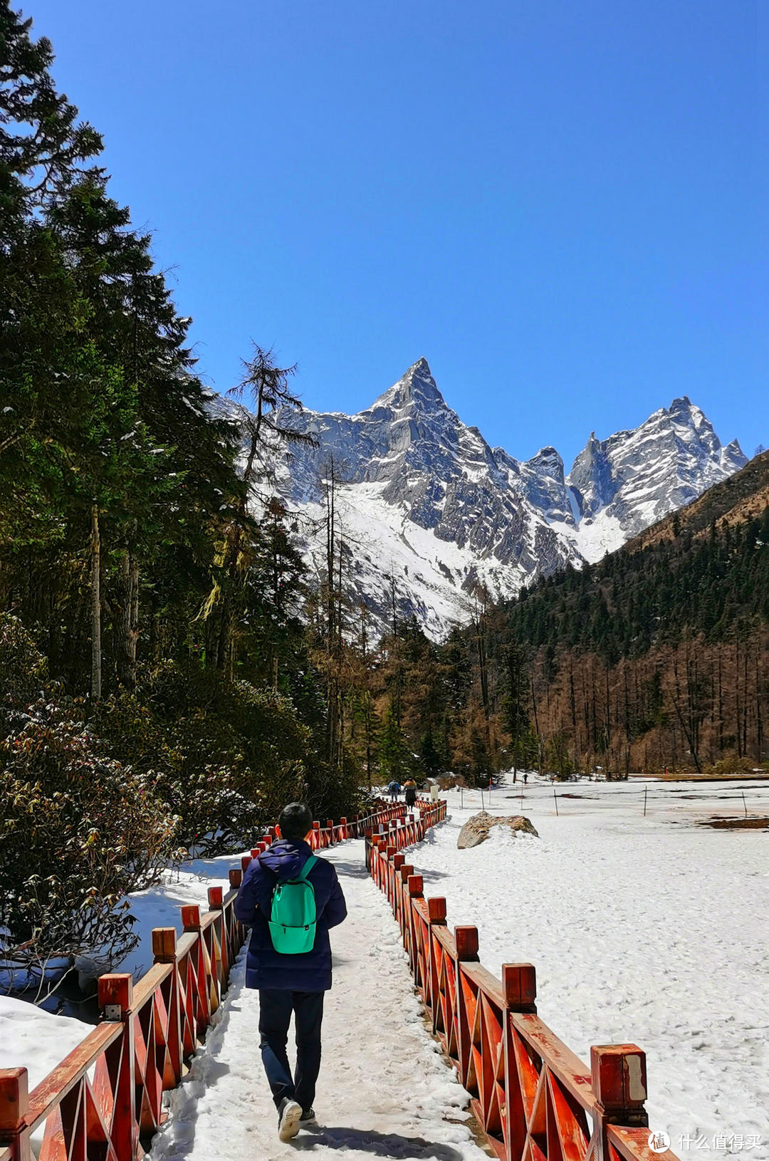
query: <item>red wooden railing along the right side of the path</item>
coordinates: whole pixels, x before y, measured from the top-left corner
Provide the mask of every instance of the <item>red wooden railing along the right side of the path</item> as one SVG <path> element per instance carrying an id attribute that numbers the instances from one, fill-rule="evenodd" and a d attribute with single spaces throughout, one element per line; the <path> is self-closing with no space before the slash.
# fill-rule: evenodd
<path id="1" fill-rule="evenodd" d="M 420 809 L 418 820 L 378 828 L 367 841 L 367 866 L 400 925 L 433 1032 L 496 1156 L 676 1161 L 650 1145 L 645 1053 L 634 1044 L 597 1045 L 588 1068 L 537 1016 L 532 965 L 505 964 L 498 980 L 480 966 L 478 929 L 451 933 L 445 900 L 423 897 L 422 875 L 400 852 L 445 817 L 445 803 Z"/>

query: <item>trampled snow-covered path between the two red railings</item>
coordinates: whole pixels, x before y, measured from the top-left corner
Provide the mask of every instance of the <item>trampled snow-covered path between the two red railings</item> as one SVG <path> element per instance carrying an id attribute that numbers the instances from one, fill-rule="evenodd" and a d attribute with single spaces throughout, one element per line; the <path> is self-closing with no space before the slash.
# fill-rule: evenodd
<path id="1" fill-rule="evenodd" d="M 367 874 L 363 843 L 324 858 L 336 865 L 349 916 L 332 931 L 318 1125 L 289 1145 L 277 1140 L 259 1053 L 259 996 L 244 987 L 241 954 L 205 1050 L 171 1094 L 172 1118 L 152 1161 L 277 1161 L 297 1151 L 334 1161 L 483 1159 L 464 1124 L 466 1094 L 422 1023 L 398 925 Z"/>

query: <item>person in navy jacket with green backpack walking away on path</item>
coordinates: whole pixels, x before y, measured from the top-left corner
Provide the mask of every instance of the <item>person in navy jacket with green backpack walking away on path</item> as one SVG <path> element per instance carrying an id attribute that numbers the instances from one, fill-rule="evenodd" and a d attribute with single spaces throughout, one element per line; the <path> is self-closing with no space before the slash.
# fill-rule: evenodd
<path id="1" fill-rule="evenodd" d="M 277 1108 L 278 1137 L 289 1141 L 314 1120 L 320 1070 L 324 993 L 331 988 L 328 929 L 347 916 L 336 870 L 310 850 L 312 815 L 290 802 L 278 819 L 280 841 L 252 860 L 235 915 L 252 928 L 246 987 L 259 989 L 262 1063 Z M 297 1067 L 285 1045 L 295 1016 Z"/>

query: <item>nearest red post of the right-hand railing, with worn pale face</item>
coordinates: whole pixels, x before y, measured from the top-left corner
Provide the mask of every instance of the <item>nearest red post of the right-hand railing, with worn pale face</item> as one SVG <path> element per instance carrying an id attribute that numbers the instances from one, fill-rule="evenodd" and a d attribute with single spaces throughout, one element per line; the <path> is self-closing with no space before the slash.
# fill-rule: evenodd
<path id="1" fill-rule="evenodd" d="M 609 1161 L 607 1125 L 647 1128 L 646 1053 L 637 1044 L 594 1044 L 590 1080 L 601 1124 L 600 1161 Z"/>

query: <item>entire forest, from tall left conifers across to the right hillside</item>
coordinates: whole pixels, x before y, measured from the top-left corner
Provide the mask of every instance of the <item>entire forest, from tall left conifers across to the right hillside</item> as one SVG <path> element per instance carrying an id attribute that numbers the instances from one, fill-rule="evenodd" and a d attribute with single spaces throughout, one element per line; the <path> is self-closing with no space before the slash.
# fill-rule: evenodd
<path id="1" fill-rule="evenodd" d="M 440 644 L 397 618 L 377 637 L 347 597 L 333 468 L 320 578 L 270 485 L 299 438 L 278 418 L 302 406 L 293 368 L 255 345 L 232 402 L 197 376 L 190 319 L 52 60 L 0 0 L 7 958 L 115 958 L 129 892 L 251 845 L 290 799 L 326 819 L 408 774 L 767 760 L 766 455 L 656 540 L 506 606 L 479 589 Z"/>

